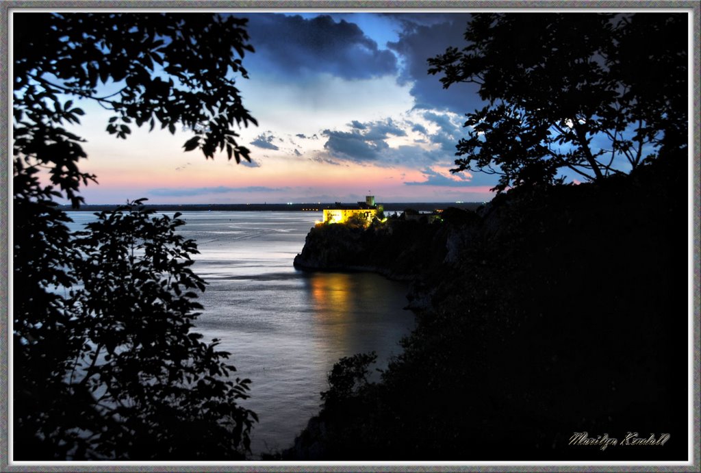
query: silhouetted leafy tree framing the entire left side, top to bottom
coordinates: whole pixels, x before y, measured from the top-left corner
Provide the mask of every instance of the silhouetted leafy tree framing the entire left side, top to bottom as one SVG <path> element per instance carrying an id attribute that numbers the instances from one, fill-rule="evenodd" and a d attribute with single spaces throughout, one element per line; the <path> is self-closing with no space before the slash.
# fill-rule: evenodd
<path id="1" fill-rule="evenodd" d="M 114 111 L 107 132 L 156 124 L 212 158 L 250 159 L 233 125 L 254 123 L 234 76 L 246 20 L 203 13 L 13 15 L 15 458 L 241 458 L 256 416 L 236 404 L 228 355 L 191 333 L 204 289 L 179 219 L 139 200 L 71 235 L 83 139 L 74 100 Z M 103 87 L 100 88 L 100 83 Z M 116 90 L 98 94 L 104 85 Z"/>

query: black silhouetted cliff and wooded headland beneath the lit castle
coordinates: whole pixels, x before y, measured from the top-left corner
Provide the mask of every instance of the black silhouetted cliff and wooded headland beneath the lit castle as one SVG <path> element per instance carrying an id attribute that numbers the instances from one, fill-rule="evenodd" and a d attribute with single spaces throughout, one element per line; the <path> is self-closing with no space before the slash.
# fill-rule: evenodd
<path id="1" fill-rule="evenodd" d="M 355 366 L 329 385 L 283 457 L 686 458 L 685 158 L 511 191 L 444 224 L 315 228 L 297 266 L 411 277 L 426 303 L 382 381 Z M 575 432 L 620 443 L 571 444 Z M 636 432 L 670 437 L 622 444 Z"/>

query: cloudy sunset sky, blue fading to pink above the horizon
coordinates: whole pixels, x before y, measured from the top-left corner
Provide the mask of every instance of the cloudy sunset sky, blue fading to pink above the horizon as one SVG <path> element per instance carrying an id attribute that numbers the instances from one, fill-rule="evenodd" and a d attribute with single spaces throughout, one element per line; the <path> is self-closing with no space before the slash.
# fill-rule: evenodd
<path id="1" fill-rule="evenodd" d="M 250 43 L 238 78 L 258 126 L 238 142 L 252 163 L 185 152 L 191 132 L 132 128 L 117 139 L 111 116 L 88 100 L 76 133 L 97 175 L 88 204 L 482 202 L 494 176 L 451 174 L 464 115 L 481 106 L 474 85 L 442 88 L 428 57 L 463 46 L 467 13 L 234 13 Z"/>

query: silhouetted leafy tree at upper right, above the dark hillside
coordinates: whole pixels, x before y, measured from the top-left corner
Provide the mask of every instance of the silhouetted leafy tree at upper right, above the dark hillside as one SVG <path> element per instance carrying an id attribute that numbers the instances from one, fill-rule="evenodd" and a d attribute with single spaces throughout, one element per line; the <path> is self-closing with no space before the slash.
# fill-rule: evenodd
<path id="1" fill-rule="evenodd" d="M 632 170 L 687 135 L 687 15 L 480 13 L 468 46 L 428 60 L 444 88 L 476 83 L 452 172 L 496 190 Z M 504 53 L 508 51 L 508 53 Z"/>

